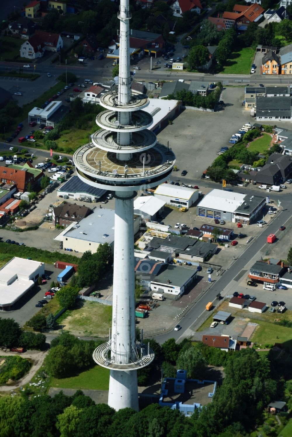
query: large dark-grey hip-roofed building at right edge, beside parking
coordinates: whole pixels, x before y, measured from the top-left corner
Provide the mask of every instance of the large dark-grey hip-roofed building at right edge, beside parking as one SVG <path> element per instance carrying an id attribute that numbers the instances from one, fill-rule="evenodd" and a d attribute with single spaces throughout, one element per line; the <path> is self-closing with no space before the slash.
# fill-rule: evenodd
<path id="1" fill-rule="evenodd" d="M 255 181 L 257 184 L 278 185 L 289 179 L 292 173 L 292 160 L 288 155 L 272 153 L 266 164 L 257 171 Z"/>

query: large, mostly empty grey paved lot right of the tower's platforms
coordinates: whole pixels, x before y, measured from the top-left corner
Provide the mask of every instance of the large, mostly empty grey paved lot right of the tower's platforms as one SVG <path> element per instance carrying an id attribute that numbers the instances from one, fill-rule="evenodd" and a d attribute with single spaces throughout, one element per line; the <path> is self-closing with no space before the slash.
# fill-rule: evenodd
<path id="1" fill-rule="evenodd" d="M 158 141 L 167 144 L 176 154 L 179 175 L 187 170 L 187 177 L 200 178 L 217 157 L 222 146 L 231 146 L 229 139 L 245 123 L 253 121 L 249 111 L 241 106 L 243 87 L 227 87 L 222 91 L 223 108 L 215 112 L 186 109 L 157 135 Z M 174 173 L 174 176 L 176 174 Z"/>

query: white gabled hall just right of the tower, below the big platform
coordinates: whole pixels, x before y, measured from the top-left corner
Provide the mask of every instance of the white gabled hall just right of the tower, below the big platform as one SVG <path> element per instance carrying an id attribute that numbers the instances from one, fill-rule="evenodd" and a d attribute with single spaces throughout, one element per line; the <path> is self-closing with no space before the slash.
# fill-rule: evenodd
<path id="1" fill-rule="evenodd" d="M 161 184 L 154 191 L 154 195 L 168 205 L 190 208 L 198 200 L 199 191 L 189 187 Z"/>

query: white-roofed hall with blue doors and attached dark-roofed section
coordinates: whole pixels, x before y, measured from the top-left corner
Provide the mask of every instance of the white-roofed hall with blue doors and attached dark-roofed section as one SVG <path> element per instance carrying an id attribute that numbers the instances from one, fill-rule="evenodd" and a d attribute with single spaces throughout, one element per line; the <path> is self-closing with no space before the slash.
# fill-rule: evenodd
<path id="1" fill-rule="evenodd" d="M 197 215 L 250 225 L 266 204 L 266 198 L 232 191 L 212 190 L 197 205 Z"/>

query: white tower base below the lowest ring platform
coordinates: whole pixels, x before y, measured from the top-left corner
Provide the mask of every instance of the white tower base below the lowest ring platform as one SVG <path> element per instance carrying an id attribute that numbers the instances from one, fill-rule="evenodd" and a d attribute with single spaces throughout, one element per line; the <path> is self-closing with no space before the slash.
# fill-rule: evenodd
<path id="1" fill-rule="evenodd" d="M 126 407 L 139 411 L 137 370 L 110 371 L 108 404 L 116 411 Z"/>

